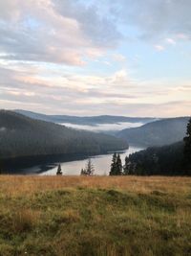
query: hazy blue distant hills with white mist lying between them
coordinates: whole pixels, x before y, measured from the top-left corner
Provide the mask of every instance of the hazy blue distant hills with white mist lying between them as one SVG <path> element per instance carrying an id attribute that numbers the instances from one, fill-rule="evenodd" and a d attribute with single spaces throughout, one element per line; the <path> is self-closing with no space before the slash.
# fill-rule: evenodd
<path id="1" fill-rule="evenodd" d="M 138 147 L 164 146 L 179 142 L 185 136 L 189 117 L 150 118 L 125 116 L 78 117 L 44 115 L 26 110 L 15 110 L 32 119 L 61 124 L 69 128 L 112 134 Z"/>

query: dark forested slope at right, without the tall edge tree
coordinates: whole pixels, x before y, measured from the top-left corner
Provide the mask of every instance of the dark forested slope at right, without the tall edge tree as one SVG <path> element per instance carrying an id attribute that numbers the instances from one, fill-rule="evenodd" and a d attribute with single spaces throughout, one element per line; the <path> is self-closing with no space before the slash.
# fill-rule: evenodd
<path id="1" fill-rule="evenodd" d="M 183 141 L 129 155 L 131 175 L 191 175 L 183 162 Z"/>

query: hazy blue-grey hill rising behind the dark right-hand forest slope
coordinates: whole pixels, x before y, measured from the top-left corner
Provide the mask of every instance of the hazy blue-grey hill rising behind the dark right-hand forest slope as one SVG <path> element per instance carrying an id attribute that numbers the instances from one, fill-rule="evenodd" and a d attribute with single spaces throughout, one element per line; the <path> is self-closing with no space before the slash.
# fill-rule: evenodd
<path id="1" fill-rule="evenodd" d="M 126 128 L 117 137 L 141 147 L 163 146 L 182 140 L 189 117 L 168 118 L 151 122 L 139 128 Z"/>

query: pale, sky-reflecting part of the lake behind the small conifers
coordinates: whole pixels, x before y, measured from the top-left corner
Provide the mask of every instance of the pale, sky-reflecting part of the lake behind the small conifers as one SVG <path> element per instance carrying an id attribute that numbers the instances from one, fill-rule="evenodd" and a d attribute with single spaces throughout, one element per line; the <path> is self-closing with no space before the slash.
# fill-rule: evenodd
<path id="1" fill-rule="evenodd" d="M 123 151 L 120 153 L 120 157 L 122 160 L 122 163 L 124 164 L 124 159 L 126 155 L 129 155 L 130 153 L 140 151 L 142 149 L 137 147 L 130 147 L 127 151 Z M 112 162 L 112 156 L 113 153 L 109 154 L 102 154 L 102 155 L 96 155 L 92 156 L 92 163 L 95 167 L 95 175 L 108 175 L 110 172 L 110 165 Z M 61 168 L 63 175 L 79 175 L 82 168 L 85 168 L 87 159 L 83 160 L 75 160 L 75 161 L 69 161 L 69 162 L 61 162 Z M 40 166 L 34 166 L 28 170 L 26 170 L 28 173 L 37 173 L 40 172 L 40 175 L 55 175 L 57 172 L 57 163 L 53 163 L 53 165 L 49 166 L 43 166 L 43 168 L 46 169 L 45 172 L 42 172 Z"/>

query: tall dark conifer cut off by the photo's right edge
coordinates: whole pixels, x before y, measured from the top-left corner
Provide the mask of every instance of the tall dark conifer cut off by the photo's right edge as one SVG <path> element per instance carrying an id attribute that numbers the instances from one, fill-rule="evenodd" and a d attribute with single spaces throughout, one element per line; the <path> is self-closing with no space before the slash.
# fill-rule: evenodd
<path id="1" fill-rule="evenodd" d="M 191 118 L 187 124 L 186 136 L 183 138 L 184 141 L 184 149 L 183 149 L 183 156 L 184 156 L 184 163 L 186 168 L 189 170 L 191 169 Z M 188 171 L 191 173 L 191 171 Z"/>

